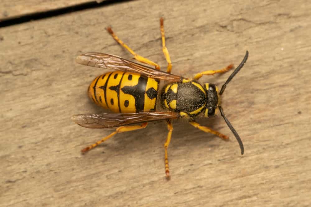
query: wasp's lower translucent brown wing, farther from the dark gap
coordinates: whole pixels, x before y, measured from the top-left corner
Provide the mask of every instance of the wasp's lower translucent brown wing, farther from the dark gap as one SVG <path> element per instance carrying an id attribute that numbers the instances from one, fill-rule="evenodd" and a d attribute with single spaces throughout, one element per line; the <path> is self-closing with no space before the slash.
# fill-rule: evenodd
<path id="1" fill-rule="evenodd" d="M 111 128 L 128 124 L 139 124 L 163 119 L 177 119 L 179 114 L 167 112 L 142 112 L 142 113 L 103 113 L 103 114 L 78 114 L 71 119 L 86 128 Z"/>

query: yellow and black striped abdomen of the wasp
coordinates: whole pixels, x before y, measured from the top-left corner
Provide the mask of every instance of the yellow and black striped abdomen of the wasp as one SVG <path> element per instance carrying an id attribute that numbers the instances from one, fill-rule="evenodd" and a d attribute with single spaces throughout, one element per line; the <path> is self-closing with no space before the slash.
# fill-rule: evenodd
<path id="1" fill-rule="evenodd" d="M 116 113 L 155 110 L 159 81 L 137 73 L 109 72 L 96 77 L 89 86 L 89 97 Z"/>

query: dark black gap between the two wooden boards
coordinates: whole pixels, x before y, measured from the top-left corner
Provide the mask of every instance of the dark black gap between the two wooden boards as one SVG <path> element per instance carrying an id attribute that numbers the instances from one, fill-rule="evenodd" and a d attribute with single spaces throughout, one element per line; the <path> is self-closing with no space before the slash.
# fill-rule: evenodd
<path id="1" fill-rule="evenodd" d="M 42 11 L 42 12 L 27 14 L 23 16 L 12 17 L 10 19 L 6 19 L 2 21 L 0 20 L 0 28 L 11 26 L 11 25 L 17 25 L 17 24 L 29 22 L 32 20 L 40 20 L 40 19 L 45 19 L 45 18 L 49 18 L 53 16 L 59 16 L 59 15 L 68 14 L 68 13 L 72 13 L 76 11 L 82 11 L 82 10 L 98 8 L 98 7 L 105 7 L 108 5 L 128 2 L 128 1 L 132 1 L 132 0 L 106 0 L 100 3 L 97 3 L 96 1 L 86 2 L 86 3 L 81 3 L 78 5 L 69 6 L 69 7 L 63 7 L 63 8 L 53 9 L 49 11 Z"/>

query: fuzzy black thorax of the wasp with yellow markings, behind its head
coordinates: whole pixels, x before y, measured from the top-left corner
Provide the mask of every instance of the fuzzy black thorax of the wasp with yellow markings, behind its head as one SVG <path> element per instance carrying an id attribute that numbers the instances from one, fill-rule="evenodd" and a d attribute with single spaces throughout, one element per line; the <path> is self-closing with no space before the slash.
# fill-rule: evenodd
<path id="1" fill-rule="evenodd" d="M 162 107 L 180 112 L 181 115 L 197 116 L 204 110 L 206 103 L 206 90 L 197 81 L 169 83 L 161 92 Z"/>

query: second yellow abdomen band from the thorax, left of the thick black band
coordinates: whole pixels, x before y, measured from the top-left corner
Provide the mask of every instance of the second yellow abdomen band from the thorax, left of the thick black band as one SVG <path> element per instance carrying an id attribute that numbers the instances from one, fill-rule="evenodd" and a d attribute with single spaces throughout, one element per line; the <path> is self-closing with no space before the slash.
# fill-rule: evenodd
<path id="1" fill-rule="evenodd" d="M 123 79 L 120 85 L 120 94 L 119 94 L 120 111 L 122 113 L 136 113 L 135 98 L 130 94 L 123 93 L 121 89 L 124 86 L 136 86 L 138 84 L 139 77 L 140 77 L 140 74 L 135 74 L 135 73 L 125 73 L 123 75 Z"/>

